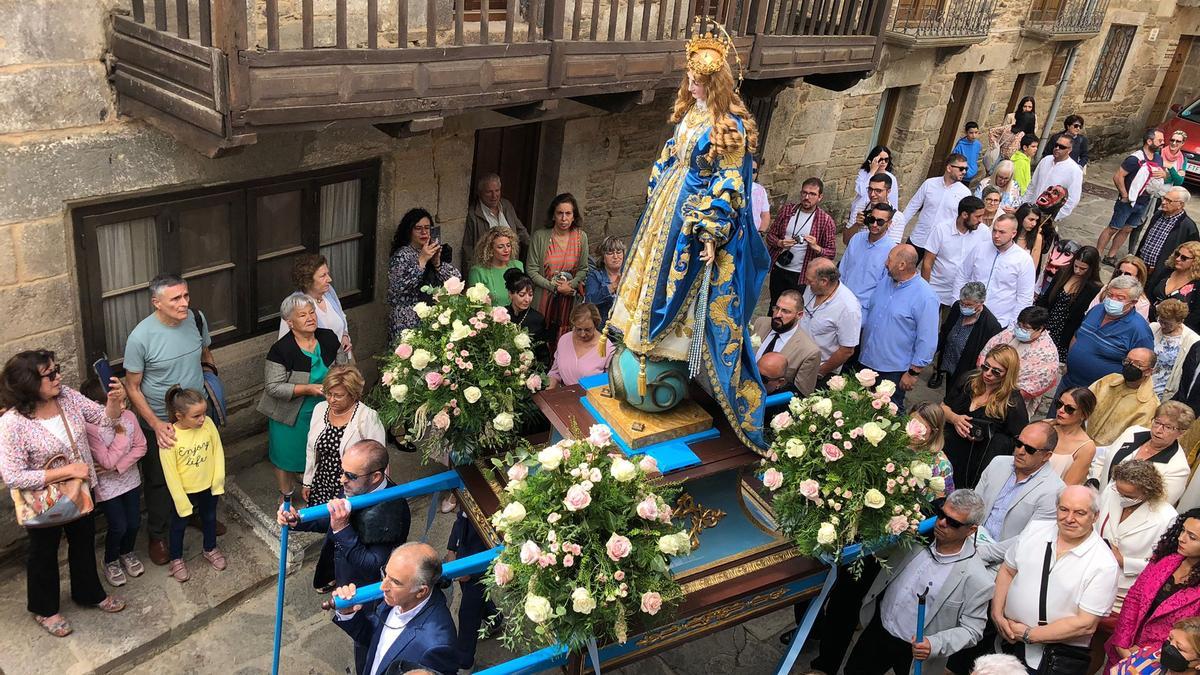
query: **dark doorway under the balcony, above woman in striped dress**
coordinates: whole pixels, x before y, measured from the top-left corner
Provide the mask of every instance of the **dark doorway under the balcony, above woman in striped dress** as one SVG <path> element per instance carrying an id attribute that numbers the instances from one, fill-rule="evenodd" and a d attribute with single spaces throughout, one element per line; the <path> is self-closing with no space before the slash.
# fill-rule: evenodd
<path id="1" fill-rule="evenodd" d="M 476 131 L 468 203 L 475 204 L 475 183 L 494 173 L 500 177 L 504 198 L 512 202 L 521 222 L 530 231 L 545 225 L 541 222 L 545 215 L 533 203 L 540 137 L 541 125 L 536 123 Z"/>

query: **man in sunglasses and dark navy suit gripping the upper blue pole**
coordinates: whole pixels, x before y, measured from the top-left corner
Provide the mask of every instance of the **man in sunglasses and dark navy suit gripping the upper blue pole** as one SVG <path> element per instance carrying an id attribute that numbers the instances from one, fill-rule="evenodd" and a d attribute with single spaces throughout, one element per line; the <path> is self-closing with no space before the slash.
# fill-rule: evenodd
<path id="1" fill-rule="evenodd" d="M 342 490 L 347 498 L 391 488 L 395 483 L 384 473 L 388 468 L 388 448 L 370 438 L 353 443 L 342 454 Z M 319 589 L 329 592 L 332 586 L 347 584 L 362 586 L 379 579 L 379 567 L 388 562 L 392 549 L 408 540 L 412 515 L 407 500 L 382 502 L 350 509 L 346 498 L 330 500 L 329 521 L 300 522 L 294 507 L 276 514 L 278 524 L 304 532 L 325 532 L 325 545 L 317 561 L 314 581 L 328 579 L 332 584 Z M 330 569 L 331 568 L 331 569 Z M 362 671 L 370 644 L 355 645 L 354 659 Z"/>

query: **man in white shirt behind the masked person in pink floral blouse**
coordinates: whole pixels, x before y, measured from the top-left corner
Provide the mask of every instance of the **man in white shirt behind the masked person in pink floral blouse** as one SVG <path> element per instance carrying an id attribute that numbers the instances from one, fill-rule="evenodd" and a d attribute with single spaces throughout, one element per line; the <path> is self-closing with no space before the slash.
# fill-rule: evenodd
<path id="1" fill-rule="evenodd" d="M 991 241 L 980 241 L 967 252 L 959 269 L 955 288 L 967 281 L 988 287 L 988 309 L 1001 328 L 1008 328 L 1016 315 L 1033 304 L 1037 271 L 1030 252 L 1016 245 L 1016 219 L 1001 215 L 991 226 Z"/>

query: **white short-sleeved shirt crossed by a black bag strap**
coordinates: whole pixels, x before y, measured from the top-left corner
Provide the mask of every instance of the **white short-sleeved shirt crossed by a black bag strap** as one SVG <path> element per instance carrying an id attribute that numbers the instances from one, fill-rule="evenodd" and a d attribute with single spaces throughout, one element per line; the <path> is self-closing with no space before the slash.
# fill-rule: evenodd
<path id="1" fill-rule="evenodd" d="M 1042 593 L 1042 566 L 1045 561 L 1046 542 L 1052 543 L 1050 579 L 1046 585 L 1046 622 L 1054 623 L 1084 610 L 1094 616 L 1108 616 L 1117 597 L 1117 579 L 1121 568 L 1112 551 L 1093 530 L 1084 543 L 1062 557 L 1057 554 L 1058 522 L 1034 520 L 1021 532 L 1016 545 L 1004 555 L 1004 565 L 1016 571 L 1004 598 L 1004 616 L 1013 621 L 1036 627 L 1038 625 L 1038 601 Z M 1000 639 L 1000 638 L 997 638 Z M 1064 644 L 1086 647 L 1091 635 L 1063 640 Z M 1025 646 L 1025 663 L 1037 668 L 1042 663 L 1044 645 Z"/>

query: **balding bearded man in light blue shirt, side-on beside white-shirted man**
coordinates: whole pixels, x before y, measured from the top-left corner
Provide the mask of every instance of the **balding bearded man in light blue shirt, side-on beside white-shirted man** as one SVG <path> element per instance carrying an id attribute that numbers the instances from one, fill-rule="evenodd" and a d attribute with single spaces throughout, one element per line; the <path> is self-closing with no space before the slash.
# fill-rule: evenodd
<path id="1" fill-rule="evenodd" d="M 917 274 L 917 249 L 911 244 L 893 247 L 884 269 L 863 317 L 858 363 L 896 383 L 892 401 L 902 410 L 905 393 L 934 360 L 937 294 Z"/>

